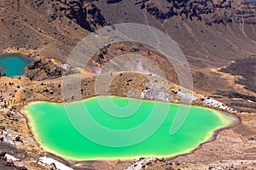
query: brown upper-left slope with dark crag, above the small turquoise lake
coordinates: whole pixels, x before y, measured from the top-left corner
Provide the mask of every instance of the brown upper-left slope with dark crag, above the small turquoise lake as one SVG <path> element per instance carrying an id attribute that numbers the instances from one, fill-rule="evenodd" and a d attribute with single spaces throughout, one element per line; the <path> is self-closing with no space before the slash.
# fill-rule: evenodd
<path id="1" fill-rule="evenodd" d="M 90 1 L 0 1 L 2 52 L 35 52 L 65 62 L 79 40 L 107 25 Z"/>

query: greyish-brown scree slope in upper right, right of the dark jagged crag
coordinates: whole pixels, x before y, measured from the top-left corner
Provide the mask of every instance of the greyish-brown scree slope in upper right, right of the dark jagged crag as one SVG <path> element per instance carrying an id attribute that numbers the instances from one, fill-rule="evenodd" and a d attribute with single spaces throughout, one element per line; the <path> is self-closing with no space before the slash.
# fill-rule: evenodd
<path id="1" fill-rule="evenodd" d="M 246 15 L 236 14 L 245 7 L 253 8 L 254 3 L 123 0 L 96 4 L 110 24 L 136 22 L 165 31 L 178 42 L 192 66 L 225 65 L 231 59 L 247 57 L 247 52 L 255 53 L 255 24 L 243 22 L 255 20 L 255 15 L 245 19 Z"/>

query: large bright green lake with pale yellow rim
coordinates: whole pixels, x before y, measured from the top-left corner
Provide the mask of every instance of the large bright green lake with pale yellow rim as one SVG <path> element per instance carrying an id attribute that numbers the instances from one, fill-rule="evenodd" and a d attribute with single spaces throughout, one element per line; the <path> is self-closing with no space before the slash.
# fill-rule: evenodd
<path id="1" fill-rule="evenodd" d="M 168 104 L 163 102 L 155 102 L 140 99 L 129 99 L 130 105 L 140 103 L 137 111 L 132 115 L 125 115 L 125 111 L 119 112 L 120 116 L 110 115 L 108 111 L 102 109 L 102 105 L 98 100 L 106 102 L 109 100 L 119 108 L 125 108 L 129 102 L 127 98 L 115 96 L 100 96 L 90 99 L 85 99 L 79 102 L 66 104 L 66 109 L 63 104 L 55 104 L 49 102 L 33 102 L 23 109 L 29 119 L 30 126 L 38 140 L 45 150 L 52 152 L 58 156 L 66 157 L 73 160 L 93 160 L 93 159 L 131 159 L 141 156 L 176 156 L 183 153 L 188 153 L 195 150 L 201 143 L 212 138 L 214 131 L 230 126 L 236 121 L 235 116 L 226 114 L 221 111 L 215 111 L 208 108 L 191 106 L 189 116 L 185 119 L 183 126 L 177 133 L 170 134 L 170 127 L 177 114 L 179 105 Z M 83 104 L 84 108 L 90 114 L 90 117 L 102 127 L 107 127 L 114 130 L 125 130 L 133 127 L 139 127 L 140 124 L 147 121 L 155 104 L 159 105 L 164 111 L 167 110 L 166 118 L 160 127 L 148 139 L 143 140 L 138 144 L 133 144 L 124 147 L 109 147 L 102 144 L 96 144 L 90 138 L 84 137 L 79 133 L 77 128 L 70 121 L 70 116 L 67 115 L 68 107 L 76 108 L 76 105 Z M 183 105 L 183 107 L 189 107 Z M 73 111 L 74 118 L 81 120 L 83 112 L 78 110 Z M 123 116 L 122 116 L 123 115 Z M 157 118 L 156 118 L 157 119 Z M 157 121 L 155 118 L 154 120 Z M 88 123 L 87 123 L 88 122 Z M 154 123 L 154 122 L 153 122 Z M 89 120 L 84 120 L 76 126 L 87 128 L 91 133 L 98 136 L 99 139 L 113 139 L 121 141 L 114 136 L 104 136 L 98 131 L 97 127 L 92 127 Z M 139 131 L 128 137 L 137 138 L 137 135 L 147 133 L 147 129 Z M 127 138 L 124 136 L 124 139 Z"/>

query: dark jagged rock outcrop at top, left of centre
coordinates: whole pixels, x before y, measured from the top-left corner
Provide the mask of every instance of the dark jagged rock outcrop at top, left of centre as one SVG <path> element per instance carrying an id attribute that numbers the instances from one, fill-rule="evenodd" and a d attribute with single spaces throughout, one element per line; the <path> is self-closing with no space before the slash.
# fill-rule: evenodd
<path id="1" fill-rule="evenodd" d="M 42 13 L 48 13 L 49 20 L 67 17 L 84 29 L 94 31 L 96 27 L 106 26 L 107 23 L 100 10 L 91 2 L 93 0 L 33 0 L 31 4 Z"/>

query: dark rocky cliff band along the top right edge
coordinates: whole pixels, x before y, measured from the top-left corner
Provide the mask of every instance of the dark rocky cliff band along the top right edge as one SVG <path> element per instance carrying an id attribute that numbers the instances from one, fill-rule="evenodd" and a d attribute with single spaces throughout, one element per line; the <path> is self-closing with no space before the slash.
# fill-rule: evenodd
<path id="1" fill-rule="evenodd" d="M 212 24 L 227 24 L 241 22 L 241 18 L 250 18 L 246 22 L 255 24 L 255 4 L 241 3 L 238 9 L 230 0 L 204 1 L 204 0 L 167 0 L 164 8 L 157 3 L 148 0 L 140 0 L 135 4 L 146 8 L 149 14 L 158 20 L 170 19 L 173 16 L 183 17 L 189 20 L 203 20 L 207 26 Z M 236 11 L 234 14 L 234 10 Z"/>

